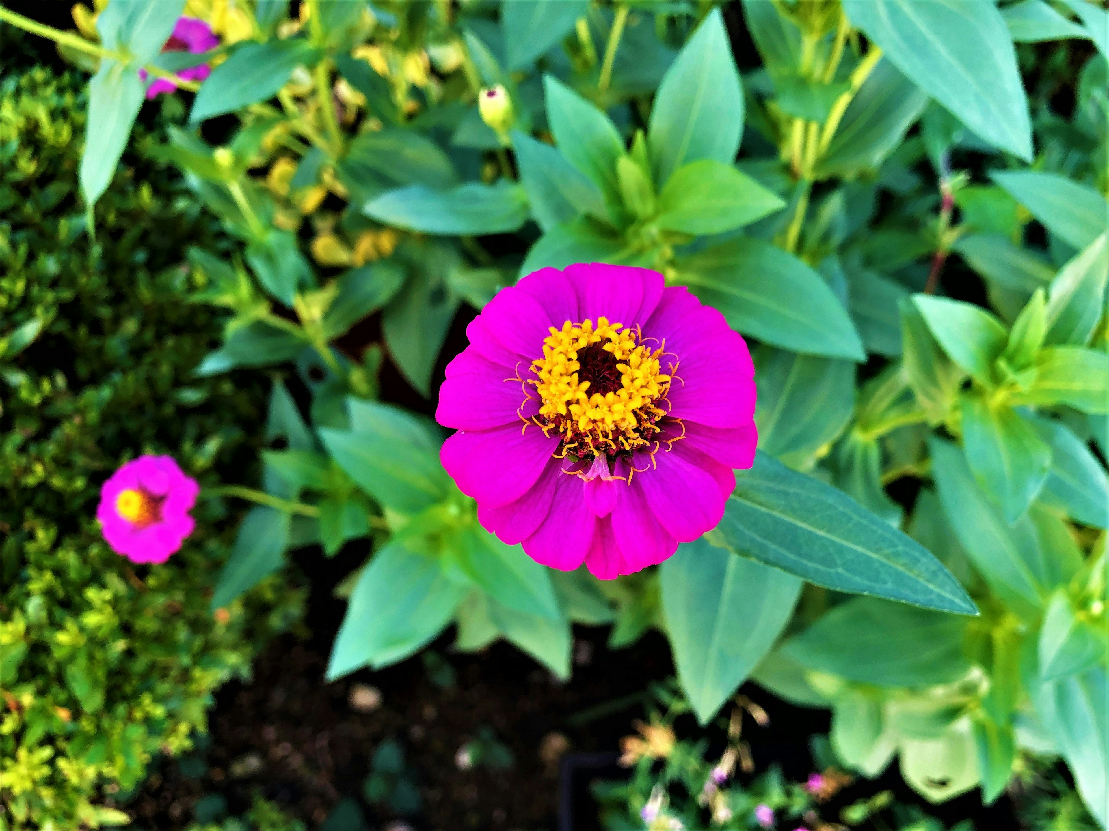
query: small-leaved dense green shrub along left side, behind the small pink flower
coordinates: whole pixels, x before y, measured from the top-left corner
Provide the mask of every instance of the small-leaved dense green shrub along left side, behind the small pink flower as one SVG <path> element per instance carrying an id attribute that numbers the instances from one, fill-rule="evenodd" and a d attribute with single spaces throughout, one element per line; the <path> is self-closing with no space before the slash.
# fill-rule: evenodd
<path id="1" fill-rule="evenodd" d="M 0 76 L 0 829 L 119 824 L 159 752 L 205 729 L 213 690 L 297 616 L 263 584 L 210 611 L 237 516 L 213 502 L 165 565 L 102 541 L 100 483 L 144 452 L 202 482 L 255 458 L 255 382 L 195 381 L 218 335 L 185 305 L 189 243 L 222 242 L 140 129 L 85 234 L 77 74 Z M 141 184 L 138 184 L 141 183 Z M 105 804 L 104 800 L 109 798 Z"/>

